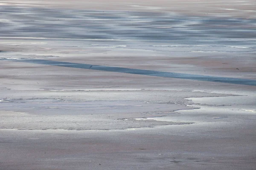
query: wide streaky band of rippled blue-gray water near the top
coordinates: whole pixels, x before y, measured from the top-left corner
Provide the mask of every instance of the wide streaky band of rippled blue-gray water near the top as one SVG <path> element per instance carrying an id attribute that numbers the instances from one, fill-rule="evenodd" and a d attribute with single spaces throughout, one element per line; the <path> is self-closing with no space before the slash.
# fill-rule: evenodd
<path id="1" fill-rule="evenodd" d="M 0 6 L 0 37 L 142 40 L 249 45 L 255 18 L 189 17 L 174 13 L 58 10 Z M 253 45 L 255 48 L 255 44 Z"/>

